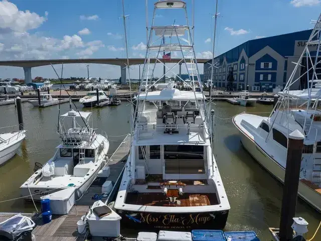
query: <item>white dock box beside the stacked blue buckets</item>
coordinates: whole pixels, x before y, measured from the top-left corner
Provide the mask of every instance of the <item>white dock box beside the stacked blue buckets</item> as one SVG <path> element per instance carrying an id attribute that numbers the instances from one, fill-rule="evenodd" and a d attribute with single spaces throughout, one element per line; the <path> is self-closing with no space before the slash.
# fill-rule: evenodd
<path id="1" fill-rule="evenodd" d="M 61 191 L 42 196 L 41 199 L 50 199 L 52 214 L 67 214 L 75 204 L 75 188 L 68 187 Z"/>

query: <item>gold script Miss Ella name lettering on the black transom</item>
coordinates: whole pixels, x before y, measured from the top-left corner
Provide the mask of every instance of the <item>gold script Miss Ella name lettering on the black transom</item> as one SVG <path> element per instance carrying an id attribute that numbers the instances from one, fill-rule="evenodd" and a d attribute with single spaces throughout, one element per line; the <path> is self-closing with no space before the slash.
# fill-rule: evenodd
<path id="1" fill-rule="evenodd" d="M 161 215 L 159 217 L 152 216 L 149 214 L 140 213 L 140 221 L 146 222 L 147 224 L 162 222 L 164 225 L 169 224 L 183 224 L 183 225 L 190 225 L 190 224 L 205 224 L 206 222 L 212 219 L 211 216 L 202 216 L 199 214 L 189 214 L 187 216 L 177 216 L 175 214 L 166 214 Z"/>

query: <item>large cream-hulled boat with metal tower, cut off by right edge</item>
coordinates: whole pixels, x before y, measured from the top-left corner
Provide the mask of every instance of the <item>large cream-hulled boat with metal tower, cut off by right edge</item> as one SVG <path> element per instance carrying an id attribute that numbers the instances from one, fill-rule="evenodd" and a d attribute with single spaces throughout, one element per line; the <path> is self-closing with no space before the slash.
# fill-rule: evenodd
<path id="1" fill-rule="evenodd" d="M 321 110 L 318 102 L 320 88 L 312 88 L 319 83 L 316 76 L 321 61 L 319 51 L 319 25 L 321 15 L 312 30 L 293 73 L 284 90 L 279 92 L 279 100 L 269 117 L 241 113 L 233 118 L 239 130 L 244 148 L 277 180 L 284 183 L 288 135 L 298 130 L 304 136 L 298 195 L 321 212 Z M 316 40 L 315 40 L 316 39 Z M 306 59 L 306 62 L 302 61 Z M 305 65 L 305 66 L 304 66 Z M 310 69 L 299 72 L 300 67 Z M 307 76 L 307 88 L 290 90 L 300 77 Z M 310 79 L 309 79 L 310 78 Z M 298 104 L 299 103 L 299 104 Z"/>

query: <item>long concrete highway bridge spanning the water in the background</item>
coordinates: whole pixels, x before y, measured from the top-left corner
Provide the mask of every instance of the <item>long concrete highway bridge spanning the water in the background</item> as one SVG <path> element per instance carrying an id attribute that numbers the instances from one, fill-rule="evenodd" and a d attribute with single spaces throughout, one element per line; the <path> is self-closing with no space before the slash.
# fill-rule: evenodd
<path id="1" fill-rule="evenodd" d="M 158 59 L 164 62 L 163 59 Z M 165 63 L 179 63 L 180 75 L 182 73 L 182 59 L 167 59 Z M 143 58 L 130 58 L 129 65 L 143 64 L 145 59 Z M 150 58 L 150 63 L 155 63 L 155 58 Z M 197 59 L 197 63 L 206 63 L 209 59 Z M 86 64 L 110 64 L 119 65 L 121 71 L 121 83 L 126 83 L 126 58 L 108 58 L 108 59 L 46 59 L 46 60 L 11 60 L 11 61 L 0 61 L 0 66 L 14 66 L 23 67 L 25 71 L 25 82 L 31 83 L 31 68 L 51 65 L 51 64 L 75 64 L 75 63 L 86 63 Z"/>

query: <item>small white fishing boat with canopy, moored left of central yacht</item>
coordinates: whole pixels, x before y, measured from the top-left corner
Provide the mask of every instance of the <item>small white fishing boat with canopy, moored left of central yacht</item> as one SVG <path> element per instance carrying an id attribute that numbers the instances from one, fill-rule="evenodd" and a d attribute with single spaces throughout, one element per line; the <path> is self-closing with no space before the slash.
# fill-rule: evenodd
<path id="1" fill-rule="evenodd" d="M 109 149 L 106 135 L 89 127 L 90 116 L 91 112 L 71 110 L 59 117 L 62 143 L 55 155 L 21 185 L 22 196 L 40 200 L 41 196 L 74 187 L 78 199 L 88 189 L 105 165 Z"/>

